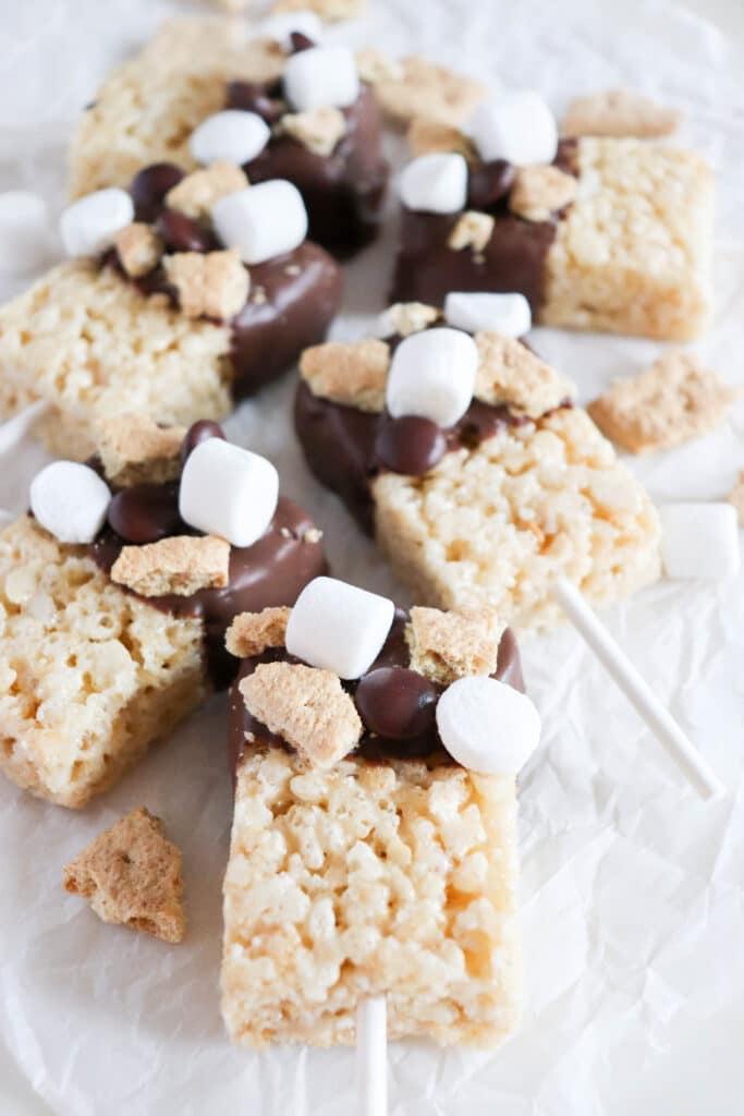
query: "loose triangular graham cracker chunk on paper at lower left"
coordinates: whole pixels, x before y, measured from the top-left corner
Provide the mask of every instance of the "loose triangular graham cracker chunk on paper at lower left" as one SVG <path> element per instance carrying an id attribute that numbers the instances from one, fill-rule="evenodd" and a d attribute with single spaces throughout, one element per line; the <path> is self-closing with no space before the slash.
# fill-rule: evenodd
<path id="1" fill-rule="evenodd" d="M 181 850 L 144 807 L 99 834 L 65 868 L 65 891 L 81 895 L 104 922 L 182 942 Z"/>

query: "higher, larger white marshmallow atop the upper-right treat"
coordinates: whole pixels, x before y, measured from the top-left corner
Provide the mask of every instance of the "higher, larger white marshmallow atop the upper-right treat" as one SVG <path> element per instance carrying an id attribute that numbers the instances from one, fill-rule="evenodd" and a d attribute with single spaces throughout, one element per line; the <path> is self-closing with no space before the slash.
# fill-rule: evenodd
<path id="1" fill-rule="evenodd" d="M 475 109 L 470 129 L 481 157 L 505 158 L 516 166 L 552 163 L 558 152 L 558 125 L 535 89 L 504 94 Z"/>

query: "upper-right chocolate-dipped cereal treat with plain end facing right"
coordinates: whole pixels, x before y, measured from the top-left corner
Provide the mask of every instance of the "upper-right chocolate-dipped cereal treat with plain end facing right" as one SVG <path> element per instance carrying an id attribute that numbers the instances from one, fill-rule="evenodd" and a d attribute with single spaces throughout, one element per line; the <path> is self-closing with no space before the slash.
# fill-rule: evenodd
<path id="1" fill-rule="evenodd" d="M 636 137 L 559 144 L 534 98 L 481 106 L 467 135 L 431 122 L 412 128 L 417 157 L 400 179 L 393 300 L 519 290 L 543 325 L 699 335 L 712 305 L 705 161 Z"/>

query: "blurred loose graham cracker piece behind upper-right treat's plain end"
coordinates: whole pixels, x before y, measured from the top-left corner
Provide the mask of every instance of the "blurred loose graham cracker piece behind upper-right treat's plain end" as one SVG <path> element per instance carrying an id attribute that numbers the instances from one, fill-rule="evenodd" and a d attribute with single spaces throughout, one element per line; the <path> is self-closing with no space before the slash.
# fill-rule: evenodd
<path id="1" fill-rule="evenodd" d="M 605 89 L 574 97 L 563 117 L 564 136 L 653 138 L 677 131 L 682 113 L 632 89 Z"/>

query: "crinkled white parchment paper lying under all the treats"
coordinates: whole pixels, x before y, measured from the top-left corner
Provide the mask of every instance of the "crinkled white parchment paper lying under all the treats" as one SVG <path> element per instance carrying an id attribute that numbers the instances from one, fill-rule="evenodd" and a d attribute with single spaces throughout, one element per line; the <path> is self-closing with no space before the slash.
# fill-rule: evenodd
<path id="1" fill-rule="evenodd" d="M 494 84 L 533 85 L 557 109 L 579 90 L 624 83 L 684 107 L 684 138 L 707 153 L 721 183 L 718 311 L 700 349 L 744 382 L 744 85 L 741 58 L 713 28 L 663 0 L 608 0 L 601 15 L 589 0 L 369 7 L 368 18 L 334 36 L 431 52 Z M 175 10 L 148 0 L 3 0 L 1 189 L 30 186 L 60 208 L 76 113 L 107 68 Z M 390 224 L 350 269 L 339 337 L 355 336 L 381 307 L 393 242 Z M 21 286 L 7 281 L 1 294 Z M 545 330 L 535 343 L 584 398 L 658 350 Z M 286 383 L 244 405 L 231 433 L 270 454 L 286 491 L 316 513 L 337 574 L 399 593 L 374 548 L 309 480 L 288 420 L 291 391 Z M 41 460 L 26 446 L 0 463 L 0 504 L 22 509 Z M 743 465 L 742 410 L 711 437 L 632 462 L 659 500 L 722 498 Z M 606 615 L 728 786 L 715 806 L 682 786 L 571 631 L 524 647 L 544 742 L 521 791 L 523 1027 L 494 1056 L 395 1047 L 396 1116 L 742 1110 L 743 586 L 744 575 L 713 586 L 661 583 Z M 234 1051 L 223 1035 L 220 888 L 231 820 L 223 714 L 215 700 L 84 814 L 0 785 L 0 1040 L 55 1113 L 358 1110 L 350 1052 Z M 177 949 L 105 926 L 61 891 L 66 860 L 141 804 L 184 850 L 190 932 Z"/>

